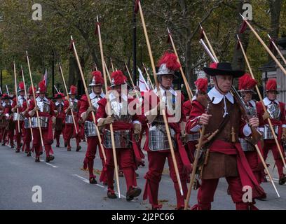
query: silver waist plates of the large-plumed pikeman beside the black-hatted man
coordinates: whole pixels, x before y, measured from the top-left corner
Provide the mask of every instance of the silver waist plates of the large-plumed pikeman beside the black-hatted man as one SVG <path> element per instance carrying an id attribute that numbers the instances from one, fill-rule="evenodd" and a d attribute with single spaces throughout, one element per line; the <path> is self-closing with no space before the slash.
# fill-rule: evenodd
<path id="1" fill-rule="evenodd" d="M 170 128 L 170 134 L 172 137 L 172 145 L 173 148 L 176 147 L 175 141 L 175 131 Z M 167 137 L 167 132 L 165 129 L 165 125 L 154 125 L 149 129 L 149 149 L 151 151 L 162 151 L 162 150 L 170 150 L 170 145 Z"/>

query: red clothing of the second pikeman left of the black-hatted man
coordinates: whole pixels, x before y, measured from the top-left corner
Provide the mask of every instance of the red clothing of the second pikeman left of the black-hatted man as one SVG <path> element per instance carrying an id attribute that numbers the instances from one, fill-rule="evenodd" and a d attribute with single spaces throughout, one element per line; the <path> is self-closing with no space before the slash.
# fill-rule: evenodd
<path id="1" fill-rule="evenodd" d="M 128 105 L 134 99 L 128 99 Z M 107 105 L 107 99 L 103 98 L 98 102 L 99 108 L 96 113 L 96 120 L 100 118 L 107 118 L 107 113 L 105 111 L 105 107 Z M 132 121 L 138 120 L 140 123 L 143 122 L 144 116 L 139 116 L 135 114 L 132 116 Z M 114 131 L 115 130 L 132 130 L 132 123 L 124 123 L 121 121 L 114 121 L 113 123 Z M 105 126 L 106 129 L 109 130 L 109 125 Z M 133 135 L 132 135 L 133 136 Z M 104 137 L 104 136 L 103 136 Z M 132 139 L 133 140 L 133 139 Z M 114 180 L 114 157 L 112 153 L 112 148 L 106 148 L 105 150 L 107 156 L 107 162 L 105 164 L 105 170 L 107 173 L 107 183 L 108 188 L 113 189 L 113 180 Z M 135 141 L 132 141 L 132 148 L 116 148 L 116 157 L 118 160 L 119 167 L 122 167 L 126 186 L 129 190 L 133 186 L 137 186 L 135 169 L 137 167 L 137 162 L 141 162 L 141 156 L 139 153 L 139 148 Z M 139 161 L 138 161 L 139 160 Z M 104 173 L 103 172 L 103 173 Z"/>

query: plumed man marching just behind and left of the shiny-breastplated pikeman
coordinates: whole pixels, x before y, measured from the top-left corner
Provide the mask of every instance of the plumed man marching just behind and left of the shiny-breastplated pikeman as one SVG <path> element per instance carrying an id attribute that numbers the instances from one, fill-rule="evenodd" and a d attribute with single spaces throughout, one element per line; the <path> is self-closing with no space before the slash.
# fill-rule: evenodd
<path id="1" fill-rule="evenodd" d="M 102 78 L 102 73 L 100 71 L 92 72 L 93 79 L 90 83 L 90 87 L 92 87 L 92 92 L 89 94 L 91 104 L 93 106 L 89 106 L 88 98 L 84 95 L 81 98 L 81 108 L 79 109 L 79 113 L 81 114 L 81 118 L 84 122 L 84 132 L 88 142 L 88 148 L 86 151 L 86 158 L 83 161 L 83 168 L 86 169 L 88 167 L 89 172 L 89 181 L 91 184 L 96 184 L 97 181 L 95 179 L 95 174 L 93 174 L 93 162 L 95 160 L 95 154 L 97 151 L 100 152 L 100 159 L 102 160 L 102 167 L 104 167 L 104 157 L 102 155 L 102 149 L 100 148 L 100 142 L 97 137 L 97 132 L 95 130 L 95 123 L 93 122 L 93 116 L 91 112 L 93 111 L 96 114 L 98 109 L 97 102 L 100 99 L 105 97 L 102 92 L 102 85 L 104 84 L 104 80 Z"/>

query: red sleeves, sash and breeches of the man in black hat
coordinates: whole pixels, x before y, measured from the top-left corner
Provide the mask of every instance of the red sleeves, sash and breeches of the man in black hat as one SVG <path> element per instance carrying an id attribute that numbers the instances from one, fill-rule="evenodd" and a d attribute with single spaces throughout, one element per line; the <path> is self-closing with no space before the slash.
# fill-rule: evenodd
<path id="1" fill-rule="evenodd" d="M 202 113 L 205 113 L 205 107 L 197 100 L 194 100 L 192 102 L 191 116 L 186 124 L 186 132 L 189 134 L 193 133 L 190 130 L 198 125 L 196 118 L 198 118 L 198 116 L 200 116 Z M 232 119 L 233 116 L 234 118 L 237 118 L 237 116 L 240 117 L 240 114 L 237 116 L 230 116 L 230 119 Z M 231 121 L 229 120 L 229 123 L 230 122 Z M 239 130 L 236 130 L 236 132 L 238 132 L 239 137 L 245 137 L 243 134 L 243 127 L 245 126 L 245 123 L 241 119 L 239 123 L 240 127 Z M 212 121 L 210 121 L 209 125 L 212 125 Z M 209 125 L 206 126 L 206 129 Z M 224 134 L 224 132 L 222 132 L 222 134 Z M 214 142 L 208 146 L 208 148 L 210 149 L 210 154 L 219 153 L 221 155 L 222 153 L 224 155 L 236 155 L 238 176 L 226 176 L 226 181 L 229 183 L 231 198 L 233 202 L 236 203 L 236 209 L 252 209 L 253 204 L 244 203 L 242 200 L 244 193 L 243 186 L 250 186 L 252 188 L 253 199 L 256 197 L 261 197 L 261 195 L 264 195 L 265 193 L 264 190 L 259 186 L 259 183 L 257 183 L 257 179 L 252 173 L 252 169 L 245 158 L 245 153 L 243 153 L 243 149 L 241 148 L 239 141 L 233 143 L 216 138 L 216 140 L 214 140 Z M 198 190 L 198 204 L 193 207 L 193 209 L 211 208 L 211 202 L 214 200 L 214 192 L 217 188 L 218 181 L 219 179 L 202 179 L 201 186 Z"/>

